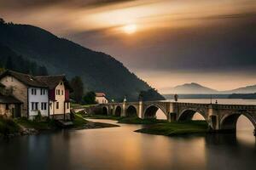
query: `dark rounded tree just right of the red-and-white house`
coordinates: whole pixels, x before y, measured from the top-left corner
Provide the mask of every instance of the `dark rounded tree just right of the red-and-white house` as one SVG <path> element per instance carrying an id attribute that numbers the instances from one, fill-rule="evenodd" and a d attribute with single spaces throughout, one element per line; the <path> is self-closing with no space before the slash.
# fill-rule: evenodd
<path id="1" fill-rule="evenodd" d="M 81 103 L 84 94 L 84 83 L 82 82 L 81 77 L 73 77 L 70 85 L 73 88 L 71 98 L 73 98 L 77 103 Z"/>

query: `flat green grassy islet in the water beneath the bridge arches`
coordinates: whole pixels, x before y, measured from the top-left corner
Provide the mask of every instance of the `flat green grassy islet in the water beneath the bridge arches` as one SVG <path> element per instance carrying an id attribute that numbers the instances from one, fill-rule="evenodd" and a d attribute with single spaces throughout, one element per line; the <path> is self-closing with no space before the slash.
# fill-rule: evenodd
<path id="1" fill-rule="evenodd" d="M 136 132 L 159 134 L 166 136 L 177 136 L 192 133 L 208 133 L 208 125 L 205 121 L 189 121 L 189 122 L 164 122 L 152 124 Z"/>

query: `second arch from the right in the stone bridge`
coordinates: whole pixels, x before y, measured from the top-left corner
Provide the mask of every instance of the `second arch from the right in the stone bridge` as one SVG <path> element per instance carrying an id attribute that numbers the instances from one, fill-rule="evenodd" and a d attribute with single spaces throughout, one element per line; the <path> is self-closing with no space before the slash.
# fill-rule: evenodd
<path id="1" fill-rule="evenodd" d="M 177 117 L 177 121 L 190 121 L 196 113 L 199 113 L 207 121 L 207 115 L 204 113 L 204 111 L 199 109 L 185 109 L 181 111 Z"/>

